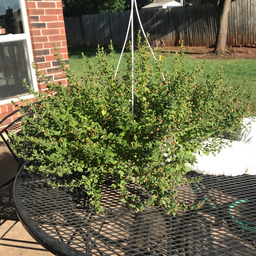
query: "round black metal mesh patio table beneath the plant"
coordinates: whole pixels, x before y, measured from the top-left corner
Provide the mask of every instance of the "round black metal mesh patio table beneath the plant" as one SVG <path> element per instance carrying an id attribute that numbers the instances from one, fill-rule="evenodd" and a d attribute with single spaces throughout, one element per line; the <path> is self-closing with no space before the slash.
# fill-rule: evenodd
<path id="1" fill-rule="evenodd" d="M 105 213 L 96 215 L 83 188 L 53 189 L 47 179 L 21 169 L 14 201 L 26 230 L 55 255 L 256 255 L 256 176 L 203 175 L 177 188 L 181 201 L 205 204 L 175 217 L 158 207 L 135 213 L 111 180 L 102 185 Z M 147 197 L 134 183 L 130 189 Z"/>

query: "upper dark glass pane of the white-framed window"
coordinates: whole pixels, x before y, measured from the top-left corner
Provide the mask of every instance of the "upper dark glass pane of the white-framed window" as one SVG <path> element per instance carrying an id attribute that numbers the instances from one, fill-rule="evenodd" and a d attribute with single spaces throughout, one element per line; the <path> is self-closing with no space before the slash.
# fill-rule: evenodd
<path id="1" fill-rule="evenodd" d="M 19 0 L 0 0 L 0 27 L 5 34 L 24 33 Z"/>

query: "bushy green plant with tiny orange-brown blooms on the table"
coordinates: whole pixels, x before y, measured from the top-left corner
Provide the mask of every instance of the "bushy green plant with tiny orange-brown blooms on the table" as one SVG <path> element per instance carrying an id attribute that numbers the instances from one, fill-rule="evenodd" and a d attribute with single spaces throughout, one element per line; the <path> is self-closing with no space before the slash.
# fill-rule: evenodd
<path id="1" fill-rule="evenodd" d="M 84 76 L 78 81 L 61 60 L 57 45 L 54 49 L 67 86 L 47 80 L 35 65 L 48 89 L 44 94 L 35 92 L 24 80 L 41 101 L 32 105 L 24 100 L 30 114 L 24 113 L 23 136 L 12 134 L 17 154 L 31 162 L 26 168 L 49 175 L 54 188 L 85 187 L 98 213 L 104 211 L 100 184 L 107 179 L 113 181 L 121 201 L 136 212 L 148 205 L 161 206 L 173 215 L 180 209 L 200 207 L 202 202 L 179 202 L 176 188 L 196 182 L 185 176 L 187 164 L 196 161 L 193 152 L 218 153 L 226 145 L 221 140 L 223 132 L 232 136 L 240 129 L 248 106 L 240 101 L 240 88 L 224 84 L 222 69 L 204 77 L 205 64 L 197 64 L 188 72 L 183 42 L 173 69 L 166 72 L 161 63 L 153 62 L 139 34 L 132 115 L 130 53 L 125 54 L 125 75 L 116 79 L 112 43 L 108 55 L 98 46 L 96 67 L 82 54 Z M 210 137 L 210 143 L 202 142 Z M 148 198 L 129 190 L 134 182 L 148 191 Z"/>

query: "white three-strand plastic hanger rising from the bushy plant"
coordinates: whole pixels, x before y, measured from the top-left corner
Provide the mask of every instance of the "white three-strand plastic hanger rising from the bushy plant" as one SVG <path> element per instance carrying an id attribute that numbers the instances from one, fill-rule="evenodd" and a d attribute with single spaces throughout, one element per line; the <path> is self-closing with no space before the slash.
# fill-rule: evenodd
<path id="1" fill-rule="evenodd" d="M 132 87 L 132 92 L 131 92 L 131 95 L 132 95 L 132 115 L 133 115 L 133 100 L 134 100 L 134 95 L 133 95 L 133 90 L 134 90 L 134 67 L 133 67 L 133 64 L 134 64 L 134 43 L 133 43 L 133 5 L 135 3 L 135 8 L 136 8 L 136 13 L 137 13 L 137 17 L 139 19 L 139 23 L 140 23 L 140 27 L 141 27 L 141 30 L 142 30 L 142 33 L 146 39 L 146 42 L 148 44 L 148 47 L 150 48 L 150 51 L 159 67 L 159 64 L 157 62 L 157 59 L 156 59 L 156 56 L 152 50 L 152 47 L 150 45 L 150 43 L 148 42 L 147 40 L 147 36 L 144 32 L 144 29 L 142 27 L 142 24 L 141 24 L 141 20 L 140 20 L 140 15 L 139 15 L 139 11 L 138 11 L 138 8 L 137 8 L 137 2 L 136 0 L 132 0 L 131 1 L 131 14 L 130 14 L 130 19 L 129 19 L 129 24 L 128 24 L 128 29 L 127 29 L 127 33 L 126 33 L 126 38 L 125 38 L 125 42 L 124 42 L 124 46 L 123 46 L 123 49 L 122 49 L 122 52 L 121 52 L 121 55 L 120 55 L 120 58 L 119 58 L 119 61 L 118 61 L 118 64 L 117 64 L 117 68 L 116 68 L 116 72 L 115 72 L 115 76 L 114 76 L 114 79 L 116 78 L 116 74 L 117 74 L 117 71 L 118 71 L 118 67 L 119 67 L 119 64 L 120 64 L 120 61 L 121 61 L 121 58 L 123 56 L 123 53 L 124 53 L 124 48 L 125 48 L 125 44 L 126 44 L 126 41 L 127 41 L 127 38 L 128 38 L 128 34 L 129 34 L 129 29 L 130 29 L 130 25 L 131 25 L 131 47 L 132 47 L 132 50 L 131 50 L 131 59 L 132 59 L 132 65 L 131 65 L 131 87 Z M 159 67 L 160 68 L 160 67 Z M 163 75 L 163 73 L 161 74 L 162 77 L 163 77 L 163 80 L 165 80 L 165 76 Z"/>

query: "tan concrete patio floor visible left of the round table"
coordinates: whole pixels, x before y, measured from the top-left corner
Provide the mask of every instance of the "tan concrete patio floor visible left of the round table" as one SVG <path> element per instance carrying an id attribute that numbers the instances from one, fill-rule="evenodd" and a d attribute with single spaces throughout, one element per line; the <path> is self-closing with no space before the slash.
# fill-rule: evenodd
<path id="1" fill-rule="evenodd" d="M 5 144 L 0 141 L 0 184 L 17 173 L 17 163 Z M 29 248 L 26 248 L 29 247 Z M 20 222 L 0 221 L 0 255 L 50 256 L 50 252 L 37 244 Z"/>

